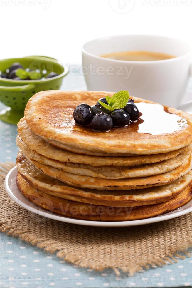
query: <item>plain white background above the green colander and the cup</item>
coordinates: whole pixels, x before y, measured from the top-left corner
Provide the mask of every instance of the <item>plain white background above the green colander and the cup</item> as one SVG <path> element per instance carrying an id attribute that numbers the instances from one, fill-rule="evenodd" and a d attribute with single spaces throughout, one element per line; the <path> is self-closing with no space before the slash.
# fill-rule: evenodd
<path id="1" fill-rule="evenodd" d="M 83 43 L 117 34 L 192 43 L 192 0 L 0 0 L 0 21 L 1 59 L 46 55 L 81 63 Z"/>

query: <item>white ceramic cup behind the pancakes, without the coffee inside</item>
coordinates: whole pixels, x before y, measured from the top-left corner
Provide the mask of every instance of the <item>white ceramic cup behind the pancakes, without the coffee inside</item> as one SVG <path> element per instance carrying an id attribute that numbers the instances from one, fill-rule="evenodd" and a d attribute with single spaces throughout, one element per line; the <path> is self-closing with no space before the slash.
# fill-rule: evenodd
<path id="1" fill-rule="evenodd" d="M 122 61 L 100 56 L 121 51 L 160 52 L 175 58 Z M 191 65 L 191 46 L 164 36 L 111 36 L 87 42 L 82 48 L 82 66 L 88 90 L 128 90 L 132 96 L 183 110 L 189 105 L 182 104 L 182 99 L 191 77 Z"/>

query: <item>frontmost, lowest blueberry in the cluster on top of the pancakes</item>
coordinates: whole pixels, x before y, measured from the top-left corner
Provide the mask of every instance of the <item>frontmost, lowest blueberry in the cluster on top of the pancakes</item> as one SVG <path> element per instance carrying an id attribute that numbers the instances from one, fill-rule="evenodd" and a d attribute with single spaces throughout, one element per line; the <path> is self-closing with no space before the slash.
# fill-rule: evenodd
<path id="1" fill-rule="evenodd" d="M 110 115 L 99 112 L 91 120 L 91 127 L 95 131 L 109 131 L 113 126 Z"/>

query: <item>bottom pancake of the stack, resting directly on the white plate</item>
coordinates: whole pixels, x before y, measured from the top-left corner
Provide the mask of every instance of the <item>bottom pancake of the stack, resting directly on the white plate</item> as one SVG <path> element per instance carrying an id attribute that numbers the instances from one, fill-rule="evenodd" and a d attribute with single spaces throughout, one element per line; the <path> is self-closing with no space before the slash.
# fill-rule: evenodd
<path id="1" fill-rule="evenodd" d="M 161 204 L 137 208 L 97 206 L 47 195 L 31 187 L 20 174 L 17 175 L 16 181 L 21 193 L 39 207 L 63 216 L 83 220 L 128 221 L 145 219 L 175 210 L 186 204 L 192 197 L 192 187 L 189 185 L 178 196 Z"/>

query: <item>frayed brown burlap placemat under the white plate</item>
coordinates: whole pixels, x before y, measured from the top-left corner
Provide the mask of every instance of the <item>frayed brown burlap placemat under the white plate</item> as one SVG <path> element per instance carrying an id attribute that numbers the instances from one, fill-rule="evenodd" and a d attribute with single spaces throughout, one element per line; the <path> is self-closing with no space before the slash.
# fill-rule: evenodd
<path id="1" fill-rule="evenodd" d="M 53 253 L 70 263 L 95 270 L 112 268 L 132 275 L 150 265 L 163 265 L 183 257 L 176 251 L 192 246 L 192 214 L 155 224 L 102 228 L 71 225 L 36 215 L 17 205 L 4 189 L 0 168 L 0 230 Z M 4 172 L 3 172 L 4 171 Z"/>

